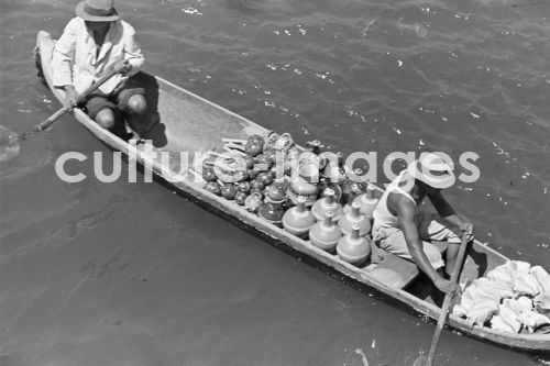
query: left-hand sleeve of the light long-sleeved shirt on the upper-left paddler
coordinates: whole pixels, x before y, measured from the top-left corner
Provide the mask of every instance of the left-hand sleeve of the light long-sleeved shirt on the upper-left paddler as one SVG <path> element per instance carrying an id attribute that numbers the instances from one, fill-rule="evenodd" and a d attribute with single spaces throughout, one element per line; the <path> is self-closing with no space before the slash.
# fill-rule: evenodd
<path id="1" fill-rule="evenodd" d="M 55 87 L 73 85 L 73 62 L 75 57 L 77 24 L 75 20 L 68 22 L 62 36 L 55 43 L 52 56 L 53 84 Z"/>

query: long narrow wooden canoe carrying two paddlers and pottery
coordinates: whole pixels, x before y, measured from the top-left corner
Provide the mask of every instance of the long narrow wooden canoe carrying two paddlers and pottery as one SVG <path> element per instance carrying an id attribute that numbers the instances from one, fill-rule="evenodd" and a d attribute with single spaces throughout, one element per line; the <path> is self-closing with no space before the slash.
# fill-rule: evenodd
<path id="1" fill-rule="evenodd" d="M 42 73 L 55 97 L 61 100 L 63 91 L 52 88 L 50 64 L 53 46 L 54 41 L 51 35 L 41 31 L 37 35 L 37 52 L 42 62 Z M 160 77 L 146 74 L 143 74 L 143 77 L 152 85 L 147 90 L 147 106 L 152 111 L 147 121 L 136 126 L 136 130 L 141 129 L 139 131 L 141 135 L 153 140 L 158 151 L 173 154 L 211 149 L 221 152 L 221 137 L 246 138 L 252 134 L 265 136 L 270 133 L 256 123 Z M 75 109 L 73 113 L 99 140 L 113 149 L 133 154 L 138 163 L 152 167 L 156 175 L 169 182 L 178 192 L 217 213 L 234 219 L 241 226 L 271 239 L 277 246 L 290 248 L 297 256 L 312 259 L 340 278 L 352 279 L 360 286 L 367 286 L 421 314 L 438 319 L 440 309 L 422 295 L 427 286 L 422 286 L 418 268 L 413 263 L 384 253 L 378 264 L 367 263 L 361 267 L 348 264 L 338 256 L 266 222 L 233 201 L 210 193 L 204 189 L 202 184 L 195 181 L 193 170 L 176 171 L 169 165 L 151 158 L 135 146 L 101 129 L 81 110 Z M 508 258 L 504 255 L 475 242 L 469 249 L 461 282 L 481 277 L 506 260 Z M 448 325 L 462 334 L 502 346 L 529 351 L 550 350 L 550 334 L 510 334 L 491 328 L 472 328 L 469 322 L 453 314 L 448 318 Z"/>

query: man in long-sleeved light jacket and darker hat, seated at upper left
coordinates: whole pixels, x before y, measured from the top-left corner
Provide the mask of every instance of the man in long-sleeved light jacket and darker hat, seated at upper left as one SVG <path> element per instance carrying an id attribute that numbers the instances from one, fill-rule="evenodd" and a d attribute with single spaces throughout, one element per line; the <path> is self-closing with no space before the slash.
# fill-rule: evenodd
<path id="1" fill-rule="evenodd" d="M 77 4 L 76 18 L 65 26 L 55 44 L 53 84 L 65 90 L 66 108 L 79 93 L 111 69 L 119 74 L 88 96 L 82 107 L 105 129 L 120 131 L 120 112 L 145 112 L 144 90 L 131 77 L 143 65 L 134 29 L 122 21 L 113 0 L 86 0 Z"/>

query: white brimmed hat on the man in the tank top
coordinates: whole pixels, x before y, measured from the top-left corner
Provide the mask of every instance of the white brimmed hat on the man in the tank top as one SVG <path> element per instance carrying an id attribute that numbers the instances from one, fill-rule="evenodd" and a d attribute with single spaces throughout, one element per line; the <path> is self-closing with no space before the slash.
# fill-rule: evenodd
<path id="1" fill-rule="evenodd" d="M 454 167 L 443 154 L 422 153 L 419 159 L 414 160 L 407 168 L 408 173 L 430 187 L 442 189 L 454 184 Z"/>

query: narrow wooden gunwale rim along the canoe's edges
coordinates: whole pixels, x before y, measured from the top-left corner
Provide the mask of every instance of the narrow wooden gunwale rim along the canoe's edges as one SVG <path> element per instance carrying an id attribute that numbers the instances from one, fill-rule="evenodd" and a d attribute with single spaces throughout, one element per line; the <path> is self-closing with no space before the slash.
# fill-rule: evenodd
<path id="1" fill-rule="evenodd" d="M 46 36 L 51 38 L 50 34 L 45 31 L 40 31 L 38 36 L 37 36 L 37 46 L 38 46 L 38 52 L 41 49 L 41 36 L 44 37 Z M 42 67 L 44 68 L 44 64 Z M 55 97 L 62 101 L 63 98 L 63 92 L 59 89 L 55 89 L 51 85 L 51 75 L 47 73 L 47 69 L 44 68 L 44 77 L 47 81 L 47 86 L 50 90 L 55 95 Z M 254 131 L 263 131 L 264 134 L 267 134 L 271 130 L 267 130 L 257 123 L 240 115 L 237 114 L 235 112 L 232 112 L 219 104 L 216 104 L 212 101 L 209 101 L 208 99 L 205 99 L 204 97 L 200 97 L 183 87 L 179 87 L 168 80 L 165 80 L 162 77 L 154 76 L 155 79 L 160 84 L 160 90 L 162 90 L 162 85 L 168 86 L 169 88 L 177 90 L 178 92 L 183 92 L 193 99 L 199 100 L 204 103 L 209 104 L 209 107 L 215 108 L 223 113 L 230 114 L 233 118 L 237 118 L 237 120 L 240 122 L 240 124 L 243 126 L 243 129 L 251 127 Z M 166 92 L 165 90 L 163 90 Z M 414 310 L 426 314 L 430 317 L 432 320 L 437 320 L 440 313 L 440 308 L 437 306 L 421 300 L 420 298 L 417 298 L 416 296 L 405 291 L 404 289 L 398 289 L 394 288 L 391 286 L 387 286 L 381 281 L 378 281 L 376 278 L 373 278 L 372 276 L 369 276 L 367 273 L 362 271 L 362 268 L 355 267 L 340 258 L 338 256 L 334 256 L 332 254 L 329 254 L 315 245 L 308 243 L 307 241 L 304 241 L 288 232 L 286 232 L 283 229 L 279 229 L 273 224 L 270 224 L 266 221 L 263 221 L 260 217 L 257 217 L 254 213 L 251 213 L 246 211 L 245 209 L 241 208 L 234 202 L 228 201 L 223 199 L 222 197 L 218 197 L 207 190 L 205 190 L 200 185 L 187 180 L 187 176 L 189 174 L 194 174 L 191 170 L 189 170 L 186 175 L 178 175 L 175 171 L 173 171 L 169 167 L 163 166 L 161 162 L 151 158 L 150 156 L 146 156 L 145 154 L 142 154 L 139 149 L 136 149 L 134 146 L 131 144 L 124 142 L 120 137 L 113 135 L 109 131 L 100 127 L 95 121 L 92 121 L 82 110 L 80 109 L 74 109 L 73 114 L 75 118 L 84 124 L 90 132 L 92 132 L 99 140 L 101 140 L 103 143 L 109 145 L 112 148 L 116 148 L 124 154 L 128 155 L 129 152 L 132 152 L 132 154 L 135 154 L 134 156 L 136 157 L 138 163 L 144 164 L 146 163 L 147 166 L 152 167 L 153 171 L 155 175 L 160 176 L 163 180 L 168 182 L 170 186 L 174 186 L 175 188 L 179 189 L 185 195 L 190 195 L 193 196 L 196 200 L 200 200 L 201 202 L 208 204 L 210 208 L 220 211 L 229 217 L 232 217 L 243 224 L 248 225 L 250 229 L 253 229 L 254 231 L 257 231 L 264 235 L 268 235 L 273 240 L 276 240 L 290 248 L 293 248 L 296 252 L 299 252 L 300 254 L 304 254 L 308 257 L 310 257 L 314 260 L 320 262 L 321 264 L 332 268 L 333 270 L 362 284 L 370 286 L 374 288 L 375 290 L 392 297 L 398 301 L 400 301 L 403 304 L 413 308 Z M 375 186 L 378 190 L 383 191 L 381 187 Z M 502 253 L 493 249 L 492 247 L 479 242 L 474 241 L 474 245 L 477 247 L 483 248 L 483 251 L 487 251 L 491 254 L 501 257 L 502 259 L 505 260 L 510 260 L 508 257 L 503 255 Z M 550 334 L 537 334 L 537 333 L 531 333 L 531 334 L 513 334 L 513 333 L 506 333 L 497 330 L 493 330 L 487 326 L 471 326 L 470 323 L 462 319 L 459 318 L 452 313 L 448 317 L 447 325 L 451 326 L 452 329 L 455 329 L 457 331 L 465 332 L 469 335 L 472 335 L 474 337 L 479 337 L 482 340 L 486 340 L 488 342 L 492 342 L 495 345 L 499 346 L 507 346 L 507 347 L 513 347 L 513 348 L 520 348 L 524 351 L 530 351 L 530 352 L 539 352 L 539 351 L 549 351 L 550 350 Z"/>

